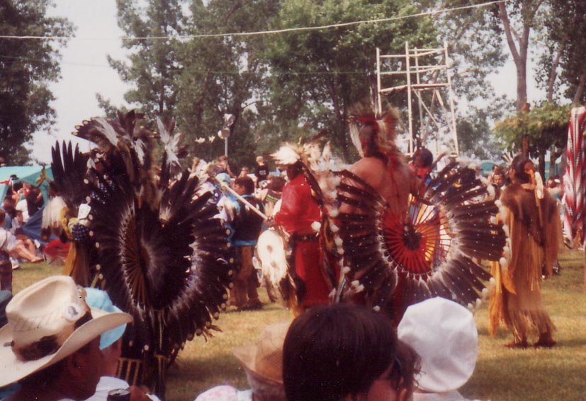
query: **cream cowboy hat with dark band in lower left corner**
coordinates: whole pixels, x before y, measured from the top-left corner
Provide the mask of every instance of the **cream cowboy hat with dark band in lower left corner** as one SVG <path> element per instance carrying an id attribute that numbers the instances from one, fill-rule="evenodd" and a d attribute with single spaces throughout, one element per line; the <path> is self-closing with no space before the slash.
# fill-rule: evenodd
<path id="1" fill-rule="evenodd" d="M 90 308 L 85 290 L 68 276 L 48 277 L 22 290 L 6 306 L 6 317 L 8 324 L 0 329 L 0 387 L 61 361 L 133 319 Z"/>

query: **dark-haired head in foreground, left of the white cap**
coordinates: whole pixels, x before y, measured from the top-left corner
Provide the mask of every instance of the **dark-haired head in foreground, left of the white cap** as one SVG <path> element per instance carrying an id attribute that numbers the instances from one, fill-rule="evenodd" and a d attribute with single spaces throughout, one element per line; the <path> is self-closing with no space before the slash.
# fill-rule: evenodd
<path id="1" fill-rule="evenodd" d="M 416 366 L 390 320 L 354 304 L 312 307 L 283 344 L 289 401 L 410 400 Z"/>

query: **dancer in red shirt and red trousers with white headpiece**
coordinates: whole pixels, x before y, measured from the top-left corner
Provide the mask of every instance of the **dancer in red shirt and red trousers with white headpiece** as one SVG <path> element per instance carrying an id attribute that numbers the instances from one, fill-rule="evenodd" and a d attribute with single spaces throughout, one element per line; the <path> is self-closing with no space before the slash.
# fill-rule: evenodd
<path id="1" fill-rule="evenodd" d="M 293 154 L 292 151 L 291 154 Z M 318 241 L 321 210 L 312 186 L 303 174 L 300 156 L 283 159 L 274 157 L 286 166 L 289 182 L 283 188 L 281 209 L 274 216 L 274 224 L 291 235 L 295 266 L 295 284 L 300 312 L 315 305 L 327 305 L 330 288 L 322 269 L 322 253 Z"/>

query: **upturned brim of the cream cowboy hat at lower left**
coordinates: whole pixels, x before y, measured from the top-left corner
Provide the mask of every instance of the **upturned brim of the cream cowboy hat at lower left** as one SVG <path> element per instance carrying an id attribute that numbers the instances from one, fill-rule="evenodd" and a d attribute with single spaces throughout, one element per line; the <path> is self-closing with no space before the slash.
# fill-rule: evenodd
<path id="1" fill-rule="evenodd" d="M 82 324 L 75 330 L 57 352 L 35 361 L 21 361 L 16 358 L 16 354 L 14 354 L 11 347 L 12 330 L 10 324 L 0 328 L 0 371 L 2 372 L 0 387 L 47 368 L 73 354 L 103 332 L 133 321 L 133 317 L 128 313 L 108 313 L 93 307 L 90 309 L 92 319 L 89 322 Z"/>

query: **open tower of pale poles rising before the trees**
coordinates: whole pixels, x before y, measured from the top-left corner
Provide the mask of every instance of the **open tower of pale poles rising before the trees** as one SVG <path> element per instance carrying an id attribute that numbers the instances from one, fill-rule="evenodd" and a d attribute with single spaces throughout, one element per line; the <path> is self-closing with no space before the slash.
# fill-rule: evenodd
<path id="1" fill-rule="evenodd" d="M 389 62 L 385 62 L 389 60 Z M 395 60 L 399 60 L 396 62 Z M 427 140 L 435 125 L 436 135 L 449 135 L 449 147 L 459 153 L 458 135 L 456 133 L 456 114 L 454 113 L 453 91 L 451 88 L 451 74 L 448 66 L 448 44 L 444 41 L 444 47 L 419 49 L 410 48 L 405 43 L 404 55 L 381 55 L 381 50 L 376 49 L 376 79 L 377 79 L 377 107 L 382 111 L 382 98 L 394 91 L 407 90 L 407 106 L 409 113 L 409 153 L 414 152 L 415 138 L 420 143 Z M 399 68 L 397 68 L 399 64 Z M 395 67 L 395 69 L 392 69 Z M 383 70 L 384 69 L 384 70 Z M 405 83 L 398 86 L 384 87 L 383 80 L 388 76 L 402 76 Z M 397 80 L 393 82 L 396 84 Z M 442 97 L 442 92 L 449 98 L 449 110 Z M 417 98 L 419 108 L 420 127 L 418 135 L 413 130 L 413 98 Z M 439 111 L 436 107 L 440 108 Z M 436 139 L 438 139 L 436 137 Z"/>

